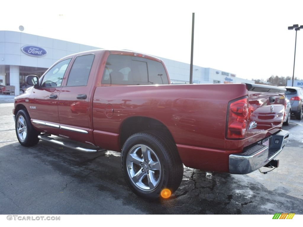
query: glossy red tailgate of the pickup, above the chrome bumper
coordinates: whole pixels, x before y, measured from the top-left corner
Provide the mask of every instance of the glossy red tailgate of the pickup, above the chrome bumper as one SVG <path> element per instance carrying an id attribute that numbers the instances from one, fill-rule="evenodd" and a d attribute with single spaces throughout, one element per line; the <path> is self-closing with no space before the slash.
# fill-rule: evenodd
<path id="1" fill-rule="evenodd" d="M 275 133 L 275 129 L 281 129 L 285 115 L 285 89 L 261 84 L 246 85 L 249 102 L 248 116 L 250 116 L 247 138 L 265 132 Z"/>

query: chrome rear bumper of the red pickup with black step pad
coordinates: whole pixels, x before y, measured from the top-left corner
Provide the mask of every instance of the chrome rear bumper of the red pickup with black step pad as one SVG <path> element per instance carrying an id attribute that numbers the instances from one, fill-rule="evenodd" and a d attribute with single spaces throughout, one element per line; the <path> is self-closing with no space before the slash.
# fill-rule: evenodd
<path id="1" fill-rule="evenodd" d="M 229 155 L 229 173 L 247 174 L 265 166 L 281 152 L 288 136 L 288 131 L 280 130 L 260 143 L 245 148 L 243 153 Z"/>

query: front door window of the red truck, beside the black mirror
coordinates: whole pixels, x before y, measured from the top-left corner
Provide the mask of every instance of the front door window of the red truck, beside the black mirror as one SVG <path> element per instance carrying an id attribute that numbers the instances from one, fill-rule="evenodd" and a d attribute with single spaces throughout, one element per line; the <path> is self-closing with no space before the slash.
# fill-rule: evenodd
<path id="1" fill-rule="evenodd" d="M 41 87 L 61 87 L 62 79 L 71 58 L 60 61 L 53 66 L 43 77 Z"/>

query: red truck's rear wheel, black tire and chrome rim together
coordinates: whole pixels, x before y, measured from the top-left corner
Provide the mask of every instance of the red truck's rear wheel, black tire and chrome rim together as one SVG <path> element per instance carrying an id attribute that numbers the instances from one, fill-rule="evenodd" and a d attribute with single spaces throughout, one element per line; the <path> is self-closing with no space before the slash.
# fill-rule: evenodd
<path id="1" fill-rule="evenodd" d="M 153 200 L 162 189 L 175 192 L 183 178 L 183 164 L 173 140 L 153 131 L 135 133 L 122 147 L 121 168 L 130 189 Z"/>

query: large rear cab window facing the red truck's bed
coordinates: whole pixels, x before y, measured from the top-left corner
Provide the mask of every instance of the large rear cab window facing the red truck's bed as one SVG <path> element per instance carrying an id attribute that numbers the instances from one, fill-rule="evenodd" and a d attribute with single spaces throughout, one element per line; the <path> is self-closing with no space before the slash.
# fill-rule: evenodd
<path id="1" fill-rule="evenodd" d="M 160 62 L 111 54 L 106 62 L 102 84 L 168 84 L 168 78 Z"/>

